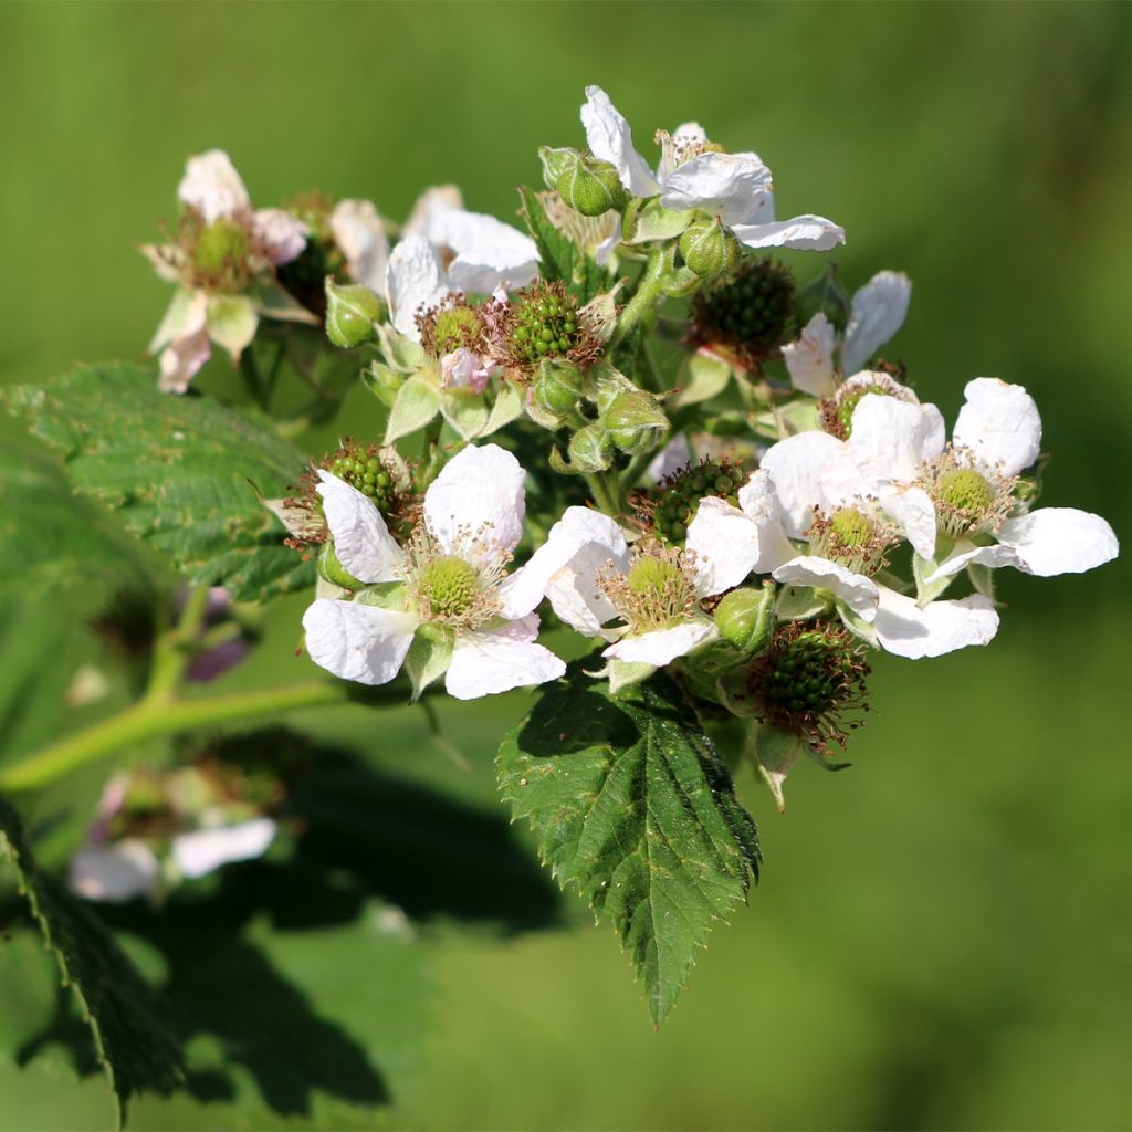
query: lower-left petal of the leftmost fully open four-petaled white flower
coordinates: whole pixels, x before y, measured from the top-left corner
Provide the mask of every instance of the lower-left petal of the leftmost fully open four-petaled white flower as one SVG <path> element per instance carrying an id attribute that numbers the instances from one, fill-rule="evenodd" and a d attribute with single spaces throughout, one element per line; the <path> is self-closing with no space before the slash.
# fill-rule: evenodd
<path id="1" fill-rule="evenodd" d="M 414 614 L 357 601 L 319 599 L 302 616 L 310 659 L 359 684 L 388 684 L 401 671 L 419 624 Z"/>

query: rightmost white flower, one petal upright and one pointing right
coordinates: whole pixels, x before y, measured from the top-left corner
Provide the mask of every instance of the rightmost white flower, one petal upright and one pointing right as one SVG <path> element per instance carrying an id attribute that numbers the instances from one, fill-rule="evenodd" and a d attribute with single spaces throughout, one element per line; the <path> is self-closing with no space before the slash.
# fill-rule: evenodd
<path id="1" fill-rule="evenodd" d="M 970 564 L 1013 566 L 1048 577 L 1079 574 L 1115 558 L 1120 543 L 1099 515 L 1074 507 L 1017 514 L 1014 477 L 1030 468 L 1041 449 L 1041 419 L 1026 389 L 978 377 L 968 383 L 964 395 L 952 451 L 926 477 L 940 525 L 955 538 L 927 582 L 951 577 Z M 1012 509 L 1012 517 L 1005 517 Z M 992 538 L 994 543 L 980 544 Z"/>

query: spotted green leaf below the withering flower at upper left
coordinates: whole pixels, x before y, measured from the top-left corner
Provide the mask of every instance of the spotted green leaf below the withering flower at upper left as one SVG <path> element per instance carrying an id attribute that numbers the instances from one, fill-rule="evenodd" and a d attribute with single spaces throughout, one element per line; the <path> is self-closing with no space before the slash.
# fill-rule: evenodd
<path id="1" fill-rule="evenodd" d="M 307 461 L 260 414 L 161 393 L 149 370 L 122 362 L 14 386 L 0 403 L 62 454 L 79 491 L 191 581 L 246 601 L 314 583 L 314 564 L 283 546 L 256 492 L 285 495 Z"/>

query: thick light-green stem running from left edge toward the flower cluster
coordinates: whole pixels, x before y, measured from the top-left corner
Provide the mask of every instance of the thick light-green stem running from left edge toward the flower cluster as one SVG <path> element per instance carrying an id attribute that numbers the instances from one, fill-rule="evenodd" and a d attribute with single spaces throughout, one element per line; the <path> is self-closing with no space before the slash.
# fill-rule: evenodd
<path id="1" fill-rule="evenodd" d="M 117 715 L 65 736 L 28 758 L 0 770 L 0 790 L 38 789 L 79 766 L 97 762 L 121 747 L 146 739 L 260 715 L 278 715 L 300 707 L 345 703 L 351 692 L 352 687 L 346 680 L 318 680 L 214 696 L 209 700 L 158 701 L 146 697 Z M 388 702 L 406 703 L 405 691 L 389 689 Z"/>

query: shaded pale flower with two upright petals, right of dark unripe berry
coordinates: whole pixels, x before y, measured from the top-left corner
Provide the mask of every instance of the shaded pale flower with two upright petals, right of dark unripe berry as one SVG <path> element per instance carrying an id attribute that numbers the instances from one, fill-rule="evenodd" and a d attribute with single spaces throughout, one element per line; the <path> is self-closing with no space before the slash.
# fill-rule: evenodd
<path id="1" fill-rule="evenodd" d="M 902 272 L 877 272 L 852 297 L 849 323 L 841 340 L 840 371 L 847 377 L 860 370 L 873 353 L 903 325 L 912 284 Z M 834 351 L 838 334 L 818 312 L 805 325 L 797 341 L 782 348 L 782 360 L 795 387 L 815 397 L 827 397 L 837 388 Z"/>

